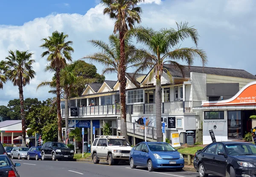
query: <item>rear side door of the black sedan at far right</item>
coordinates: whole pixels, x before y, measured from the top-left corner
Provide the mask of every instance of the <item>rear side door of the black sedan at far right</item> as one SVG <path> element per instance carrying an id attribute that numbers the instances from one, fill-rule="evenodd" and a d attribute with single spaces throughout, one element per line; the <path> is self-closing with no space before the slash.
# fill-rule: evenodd
<path id="1" fill-rule="evenodd" d="M 204 168 L 206 171 L 213 171 L 214 169 L 212 168 L 212 160 L 213 157 L 215 156 L 215 148 L 217 146 L 217 143 L 212 143 L 209 145 L 209 147 L 202 153 L 202 162 L 204 164 Z"/>

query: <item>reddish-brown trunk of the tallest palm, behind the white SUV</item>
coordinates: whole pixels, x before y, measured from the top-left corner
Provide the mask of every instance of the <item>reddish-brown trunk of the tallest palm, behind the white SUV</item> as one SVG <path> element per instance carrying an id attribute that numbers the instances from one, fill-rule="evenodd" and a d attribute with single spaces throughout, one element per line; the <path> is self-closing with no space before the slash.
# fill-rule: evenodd
<path id="1" fill-rule="evenodd" d="M 126 100 L 125 100 L 125 40 L 124 40 L 125 33 L 120 31 L 119 32 L 119 42 L 120 42 L 120 70 L 119 70 L 119 82 L 120 82 L 120 102 L 121 102 L 121 127 L 120 127 L 120 134 L 121 136 L 125 136 L 125 139 L 129 142 L 128 135 L 127 135 L 127 128 L 126 128 Z"/>

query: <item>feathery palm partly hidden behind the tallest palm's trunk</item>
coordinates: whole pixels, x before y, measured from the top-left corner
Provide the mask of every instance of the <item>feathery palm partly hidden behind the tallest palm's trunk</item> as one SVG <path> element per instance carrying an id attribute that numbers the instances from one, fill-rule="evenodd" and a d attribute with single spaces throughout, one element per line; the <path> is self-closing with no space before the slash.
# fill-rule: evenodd
<path id="1" fill-rule="evenodd" d="M 131 44 L 131 35 L 125 36 L 125 73 L 130 67 L 137 67 L 142 64 L 140 60 L 140 50 L 137 50 L 134 45 Z M 120 76 L 120 43 L 119 35 L 110 35 L 109 36 L 109 45 L 103 41 L 91 40 L 93 46 L 98 47 L 102 52 L 97 52 L 93 55 L 85 56 L 84 58 L 90 59 L 91 61 L 96 61 L 99 64 L 105 65 L 105 69 L 102 70 L 102 74 L 106 73 L 117 73 L 117 78 Z M 133 80 L 134 76 L 132 76 Z M 136 82 L 134 82 L 136 84 Z M 121 86 L 120 86 L 121 87 Z M 121 97 L 121 96 L 120 96 Z M 121 128 L 122 136 L 127 136 L 126 130 L 126 119 L 125 125 Z"/>

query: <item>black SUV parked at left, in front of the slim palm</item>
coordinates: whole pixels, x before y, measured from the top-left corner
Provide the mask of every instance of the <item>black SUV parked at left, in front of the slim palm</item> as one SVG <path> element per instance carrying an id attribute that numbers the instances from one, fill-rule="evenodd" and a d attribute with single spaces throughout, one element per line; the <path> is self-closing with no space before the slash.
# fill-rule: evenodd
<path id="1" fill-rule="evenodd" d="M 62 142 L 46 142 L 41 148 L 42 160 L 45 158 L 73 160 L 74 151 Z"/>

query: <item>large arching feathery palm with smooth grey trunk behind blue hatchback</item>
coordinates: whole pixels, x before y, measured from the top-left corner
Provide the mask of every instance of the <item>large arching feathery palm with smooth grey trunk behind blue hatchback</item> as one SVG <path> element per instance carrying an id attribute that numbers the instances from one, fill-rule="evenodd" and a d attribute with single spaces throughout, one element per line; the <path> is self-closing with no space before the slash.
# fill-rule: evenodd
<path id="1" fill-rule="evenodd" d="M 137 42 L 145 44 L 148 47 L 149 52 L 145 52 L 145 61 L 142 66 L 138 67 L 137 72 L 149 69 L 153 69 L 149 73 L 149 80 L 151 80 L 153 73 L 156 78 L 156 105 L 161 105 L 161 76 L 163 72 L 169 76 L 171 82 L 173 82 L 172 74 L 164 67 L 164 64 L 171 64 L 183 73 L 183 65 L 177 61 L 183 61 L 191 66 L 195 60 L 195 57 L 201 58 L 202 64 L 206 64 L 207 55 L 202 49 L 198 48 L 179 48 L 177 45 L 180 41 L 184 41 L 186 38 L 192 38 L 192 41 L 198 46 L 198 31 L 193 27 L 189 27 L 188 23 L 177 23 L 177 29 L 160 29 L 160 31 L 154 31 L 151 28 L 139 27 L 132 30 L 132 33 L 137 38 Z M 184 73 L 183 73 L 184 76 Z M 157 122 L 157 141 L 163 141 L 163 134 L 161 130 L 161 107 L 156 107 L 156 122 Z"/>

